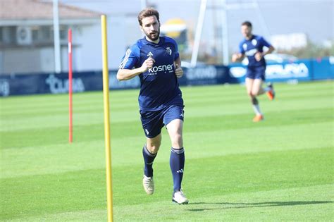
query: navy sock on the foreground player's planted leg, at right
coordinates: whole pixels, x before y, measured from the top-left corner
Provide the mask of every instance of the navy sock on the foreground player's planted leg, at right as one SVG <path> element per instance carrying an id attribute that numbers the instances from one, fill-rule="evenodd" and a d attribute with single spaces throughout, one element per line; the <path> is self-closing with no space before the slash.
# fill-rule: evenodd
<path id="1" fill-rule="evenodd" d="M 185 150 L 171 149 L 171 158 L 169 159 L 169 165 L 173 174 L 174 192 L 181 190 L 181 183 L 183 178 L 183 168 L 185 167 Z"/>

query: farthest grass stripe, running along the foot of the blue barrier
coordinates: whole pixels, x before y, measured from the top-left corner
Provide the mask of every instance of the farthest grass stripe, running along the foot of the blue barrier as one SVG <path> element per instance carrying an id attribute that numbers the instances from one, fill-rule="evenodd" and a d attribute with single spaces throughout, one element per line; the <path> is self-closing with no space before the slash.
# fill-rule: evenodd
<path id="1" fill-rule="evenodd" d="M 285 85 L 278 83 L 277 92 L 280 97 L 313 97 L 313 89 L 320 96 L 333 94 L 333 82 L 312 82 L 299 85 Z M 204 87 L 182 87 L 183 97 L 190 103 L 192 101 L 205 99 L 223 99 L 223 101 L 245 98 L 245 86 L 240 85 L 216 85 Z M 125 106 L 137 105 L 137 90 L 111 91 L 110 100 L 112 106 L 123 108 Z M 35 98 L 35 97 L 34 97 Z M 21 109 L 22 111 L 38 110 L 38 109 L 59 109 L 59 107 L 67 108 L 68 96 L 66 94 L 57 95 L 39 95 L 36 99 L 31 97 L 11 97 L 11 99 L 0 99 L 1 114 L 9 114 L 13 111 Z M 46 104 L 48 104 L 46 106 Z M 74 106 L 86 107 L 103 106 L 103 95 L 101 92 L 86 92 L 84 94 L 73 95 Z"/>

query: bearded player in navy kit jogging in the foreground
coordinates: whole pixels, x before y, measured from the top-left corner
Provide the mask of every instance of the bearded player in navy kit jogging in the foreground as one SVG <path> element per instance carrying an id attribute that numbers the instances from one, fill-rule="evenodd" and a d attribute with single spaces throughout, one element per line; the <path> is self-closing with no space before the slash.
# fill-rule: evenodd
<path id="1" fill-rule="evenodd" d="M 173 202 L 187 204 L 181 190 L 185 153 L 183 149 L 183 99 L 178 86 L 182 77 L 178 45 L 170 37 L 160 37 L 159 12 L 145 8 L 138 15 L 144 38 L 139 39 L 123 56 L 118 80 L 139 75 L 139 106 L 142 128 L 147 137 L 142 149 L 144 157 L 144 190 L 154 193 L 152 164 L 161 144 L 161 128 L 166 125 L 171 138 L 170 166 L 173 174 Z"/>

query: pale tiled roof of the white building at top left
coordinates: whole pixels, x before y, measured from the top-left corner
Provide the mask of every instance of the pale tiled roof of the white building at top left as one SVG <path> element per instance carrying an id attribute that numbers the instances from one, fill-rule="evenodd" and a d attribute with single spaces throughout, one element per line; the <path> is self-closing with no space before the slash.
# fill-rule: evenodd
<path id="1" fill-rule="evenodd" d="M 101 13 L 58 4 L 59 19 L 99 18 Z M 0 20 L 51 20 L 52 1 L 0 0 Z"/>

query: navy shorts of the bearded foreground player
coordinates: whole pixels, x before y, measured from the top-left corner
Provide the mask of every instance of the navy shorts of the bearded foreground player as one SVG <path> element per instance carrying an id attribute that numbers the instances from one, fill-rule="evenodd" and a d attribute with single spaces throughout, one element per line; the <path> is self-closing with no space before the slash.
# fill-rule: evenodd
<path id="1" fill-rule="evenodd" d="M 171 123 L 175 119 L 183 121 L 183 106 L 167 106 L 159 111 L 140 111 L 142 128 L 146 137 L 153 138 L 160 134 L 163 125 Z"/>

